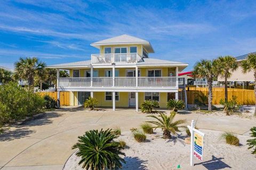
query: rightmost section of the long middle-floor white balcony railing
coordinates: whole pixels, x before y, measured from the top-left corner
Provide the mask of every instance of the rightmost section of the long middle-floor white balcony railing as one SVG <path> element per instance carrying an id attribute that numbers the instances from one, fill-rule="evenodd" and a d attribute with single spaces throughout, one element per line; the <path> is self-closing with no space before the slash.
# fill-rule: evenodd
<path id="1" fill-rule="evenodd" d="M 175 87 L 176 77 L 139 77 L 139 87 Z"/>

